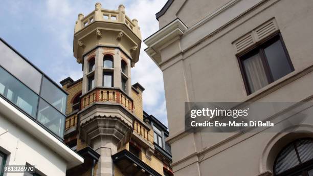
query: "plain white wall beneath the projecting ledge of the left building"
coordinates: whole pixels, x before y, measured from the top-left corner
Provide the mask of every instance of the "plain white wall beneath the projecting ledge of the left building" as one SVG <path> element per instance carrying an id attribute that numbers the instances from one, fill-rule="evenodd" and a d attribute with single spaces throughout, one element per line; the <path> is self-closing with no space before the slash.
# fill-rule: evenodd
<path id="1" fill-rule="evenodd" d="M 35 165 L 38 170 L 48 176 L 65 175 L 65 160 L 0 114 L 0 134 L 7 129 L 8 133 L 0 136 L 0 150 L 8 154 L 6 165 L 25 165 L 27 162 Z M 7 175 L 23 175 L 23 173 L 7 173 Z"/>

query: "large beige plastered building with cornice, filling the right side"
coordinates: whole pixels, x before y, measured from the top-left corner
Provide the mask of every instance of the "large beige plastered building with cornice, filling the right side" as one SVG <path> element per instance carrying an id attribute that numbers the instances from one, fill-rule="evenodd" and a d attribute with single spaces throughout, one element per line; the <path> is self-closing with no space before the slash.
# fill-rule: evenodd
<path id="1" fill-rule="evenodd" d="M 163 72 L 174 175 L 313 175 L 313 1 L 169 0 L 144 40 Z M 302 133 L 186 133 L 184 102 L 294 102 Z M 278 114 L 280 113 L 280 114 Z M 184 146 L 184 147 L 182 147 Z"/>

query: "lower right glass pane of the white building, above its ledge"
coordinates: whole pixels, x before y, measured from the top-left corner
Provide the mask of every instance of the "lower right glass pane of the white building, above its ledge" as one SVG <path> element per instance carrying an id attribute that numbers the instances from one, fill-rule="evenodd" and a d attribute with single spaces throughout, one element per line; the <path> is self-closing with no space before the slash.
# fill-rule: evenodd
<path id="1" fill-rule="evenodd" d="M 42 99 L 39 102 L 37 121 L 59 137 L 63 137 L 65 117 Z"/>

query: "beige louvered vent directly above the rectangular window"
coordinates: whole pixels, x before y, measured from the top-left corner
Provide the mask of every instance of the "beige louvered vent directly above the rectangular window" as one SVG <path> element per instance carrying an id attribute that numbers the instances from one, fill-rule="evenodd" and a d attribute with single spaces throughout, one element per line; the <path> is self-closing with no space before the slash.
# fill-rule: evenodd
<path id="1" fill-rule="evenodd" d="M 235 47 L 237 53 L 240 53 L 276 31 L 278 31 L 278 26 L 275 18 L 273 18 L 269 21 L 266 21 L 266 23 L 258 26 L 254 30 L 250 31 L 248 34 L 235 40 L 233 42 L 233 46 Z"/>

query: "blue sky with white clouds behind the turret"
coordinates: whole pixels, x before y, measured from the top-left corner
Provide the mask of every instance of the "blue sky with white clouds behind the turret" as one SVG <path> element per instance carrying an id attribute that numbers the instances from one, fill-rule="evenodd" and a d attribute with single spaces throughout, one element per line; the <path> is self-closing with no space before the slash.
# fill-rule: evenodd
<path id="1" fill-rule="evenodd" d="M 166 0 L 3 0 L 0 1 L 0 37 L 55 82 L 68 76 L 77 80 L 82 77 L 82 71 L 73 56 L 75 21 L 79 13 L 92 12 L 97 2 L 103 9 L 112 10 L 123 4 L 126 15 L 138 19 L 142 39 L 145 39 L 158 31 L 155 13 Z M 145 87 L 144 110 L 167 126 L 163 75 L 143 51 L 145 48 L 142 42 L 139 62 L 131 70 L 131 81 Z"/>

